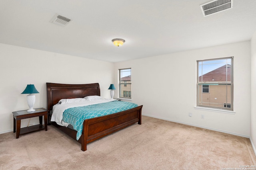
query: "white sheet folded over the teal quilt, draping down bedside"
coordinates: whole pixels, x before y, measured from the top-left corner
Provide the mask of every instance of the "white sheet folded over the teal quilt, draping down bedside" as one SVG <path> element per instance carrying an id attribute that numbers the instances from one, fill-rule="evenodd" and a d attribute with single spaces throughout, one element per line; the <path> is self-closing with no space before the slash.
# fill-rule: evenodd
<path id="1" fill-rule="evenodd" d="M 52 118 L 51 121 L 55 121 L 58 125 L 61 126 L 68 126 L 68 123 L 62 121 L 63 112 L 71 107 L 80 107 L 80 106 L 88 106 L 92 104 L 98 103 L 106 103 L 112 102 L 115 99 L 100 99 L 100 100 L 93 100 L 93 101 L 85 101 L 85 102 L 72 102 L 72 103 L 65 103 L 65 104 L 56 104 L 52 108 Z"/>

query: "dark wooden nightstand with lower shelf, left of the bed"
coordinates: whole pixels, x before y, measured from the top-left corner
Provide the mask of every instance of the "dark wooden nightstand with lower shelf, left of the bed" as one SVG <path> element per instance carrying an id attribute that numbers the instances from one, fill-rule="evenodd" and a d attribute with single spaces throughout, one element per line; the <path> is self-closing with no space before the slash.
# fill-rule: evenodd
<path id="1" fill-rule="evenodd" d="M 45 129 L 47 131 L 47 115 L 48 111 L 44 108 L 38 108 L 35 109 L 36 111 L 27 112 L 27 110 L 21 110 L 21 111 L 14 111 L 13 114 L 13 133 L 16 132 L 16 139 L 19 138 L 20 135 L 34 132 L 34 131 L 40 131 L 42 129 Z M 21 119 L 27 119 L 31 117 L 38 117 L 39 116 L 39 125 L 33 125 L 28 127 L 23 127 L 20 129 L 20 122 Z M 44 125 L 42 125 L 42 119 L 44 116 Z M 17 129 L 16 129 L 17 128 Z"/>

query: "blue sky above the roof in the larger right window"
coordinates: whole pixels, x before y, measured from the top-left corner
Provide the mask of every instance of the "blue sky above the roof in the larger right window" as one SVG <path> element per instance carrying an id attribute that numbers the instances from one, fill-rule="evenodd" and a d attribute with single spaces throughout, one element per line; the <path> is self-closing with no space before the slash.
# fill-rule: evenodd
<path id="1" fill-rule="evenodd" d="M 198 76 L 202 76 L 212 70 L 220 68 L 226 64 L 231 65 L 231 59 L 222 59 L 222 60 L 211 60 L 211 61 L 200 61 L 198 63 Z"/>

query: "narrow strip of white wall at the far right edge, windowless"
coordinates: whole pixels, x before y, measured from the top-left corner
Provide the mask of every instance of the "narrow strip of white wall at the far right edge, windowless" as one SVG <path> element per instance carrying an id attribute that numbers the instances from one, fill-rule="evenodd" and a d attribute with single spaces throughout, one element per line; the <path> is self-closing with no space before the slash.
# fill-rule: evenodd
<path id="1" fill-rule="evenodd" d="M 256 154 L 256 31 L 251 39 L 251 129 L 250 141 Z"/>

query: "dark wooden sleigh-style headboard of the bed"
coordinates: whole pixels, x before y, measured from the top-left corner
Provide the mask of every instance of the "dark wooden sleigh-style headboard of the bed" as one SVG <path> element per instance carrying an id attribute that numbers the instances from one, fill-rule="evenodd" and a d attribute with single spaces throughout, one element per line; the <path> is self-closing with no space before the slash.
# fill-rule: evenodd
<path id="1" fill-rule="evenodd" d="M 100 85 L 92 84 L 57 84 L 46 83 L 47 88 L 47 109 L 57 104 L 60 99 L 84 98 L 86 96 L 100 96 Z"/>

